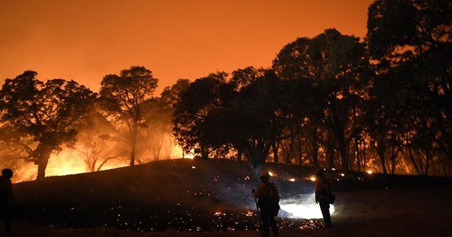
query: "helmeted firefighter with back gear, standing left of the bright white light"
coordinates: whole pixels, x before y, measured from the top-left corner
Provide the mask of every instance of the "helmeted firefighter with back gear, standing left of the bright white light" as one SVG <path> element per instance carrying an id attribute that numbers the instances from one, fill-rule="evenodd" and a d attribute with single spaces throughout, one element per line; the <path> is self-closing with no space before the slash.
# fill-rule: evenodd
<path id="1" fill-rule="evenodd" d="M 251 190 L 254 197 L 258 198 L 258 207 L 261 209 L 261 221 L 263 237 L 270 236 L 270 228 L 273 231 L 273 237 L 278 237 L 278 226 L 275 217 L 278 215 L 280 194 L 274 183 L 270 182 L 268 171 L 262 171 L 261 183 L 257 190 Z"/>

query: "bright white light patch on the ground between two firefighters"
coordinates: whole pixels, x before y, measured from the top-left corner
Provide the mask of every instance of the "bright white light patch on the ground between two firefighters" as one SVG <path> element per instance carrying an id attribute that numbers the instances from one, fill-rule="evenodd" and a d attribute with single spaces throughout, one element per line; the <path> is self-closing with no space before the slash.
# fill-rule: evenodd
<path id="1" fill-rule="evenodd" d="M 300 195 L 300 197 L 290 198 L 280 201 L 280 212 L 287 218 L 299 219 L 321 219 L 322 212 L 319 204 L 315 202 L 315 194 Z M 330 214 L 333 214 L 334 206 L 330 205 Z"/>

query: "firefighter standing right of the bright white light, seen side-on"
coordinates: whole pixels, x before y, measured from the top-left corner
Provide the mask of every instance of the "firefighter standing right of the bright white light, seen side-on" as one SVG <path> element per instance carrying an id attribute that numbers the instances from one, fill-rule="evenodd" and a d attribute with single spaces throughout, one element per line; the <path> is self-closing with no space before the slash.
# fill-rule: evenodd
<path id="1" fill-rule="evenodd" d="M 323 221 L 325 221 L 326 227 L 331 228 L 331 214 L 330 214 L 330 200 L 328 198 L 328 193 L 331 193 L 331 188 L 333 184 L 330 178 L 326 176 L 324 169 L 316 170 L 316 203 L 319 203 L 320 209 L 323 216 Z"/>

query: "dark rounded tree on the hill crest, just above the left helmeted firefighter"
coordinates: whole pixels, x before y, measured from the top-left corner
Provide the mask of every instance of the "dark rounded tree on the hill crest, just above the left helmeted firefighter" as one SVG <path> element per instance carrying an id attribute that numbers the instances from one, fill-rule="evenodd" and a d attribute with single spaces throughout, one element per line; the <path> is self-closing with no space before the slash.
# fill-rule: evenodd
<path id="1" fill-rule="evenodd" d="M 271 147 L 273 162 L 278 162 L 278 142 L 287 122 L 287 87 L 273 70 L 252 67 L 235 71 L 231 82 L 241 85 L 230 112 L 231 143 L 258 174 Z"/>

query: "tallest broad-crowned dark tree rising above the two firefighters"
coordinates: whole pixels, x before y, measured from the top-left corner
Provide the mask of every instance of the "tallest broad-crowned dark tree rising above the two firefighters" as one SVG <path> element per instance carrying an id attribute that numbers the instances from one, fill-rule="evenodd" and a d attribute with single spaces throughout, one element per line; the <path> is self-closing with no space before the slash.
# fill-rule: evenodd
<path id="1" fill-rule="evenodd" d="M 349 145 L 354 134 L 352 116 L 364 97 L 365 63 L 364 44 L 357 37 L 341 35 L 335 29 L 325 30 L 312 39 L 298 38 L 283 47 L 273 61 L 273 68 L 281 78 L 309 80 L 319 89 L 320 93 L 314 100 L 325 102 L 323 131 L 332 133 L 343 170 L 350 166 Z M 331 145 L 328 148 L 331 150 Z M 331 155 L 330 159 L 333 166 Z"/>

